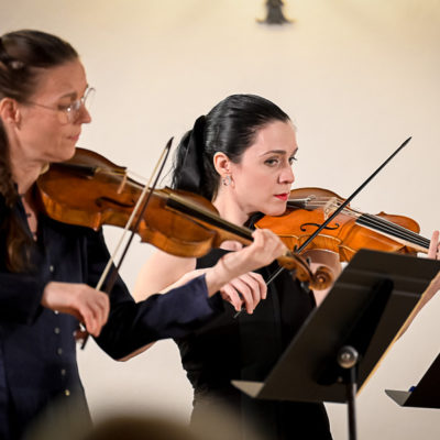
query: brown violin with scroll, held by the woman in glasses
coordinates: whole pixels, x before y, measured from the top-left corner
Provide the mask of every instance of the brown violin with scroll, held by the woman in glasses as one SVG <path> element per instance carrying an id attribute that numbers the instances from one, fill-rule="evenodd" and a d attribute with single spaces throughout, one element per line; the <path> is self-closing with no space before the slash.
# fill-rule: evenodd
<path id="1" fill-rule="evenodd" d="M 85 148 L 77 148 L 67 162 L 51 164 L 37 182 L 37 199 L 43 212 L 61 222 L 98 230 L 103 224 L 125 227 L 144 186 L 118 166 Z M 135 231 L 143 242 L 177 256 L 200 257 L 223 241 L 252 243 L 252 231 L 220 218 L 204 197 L 169 188 L 148 189 L 148 205 L 135 215 Z M 136 221 L 139 220 L 139 221 Z M 311 288 L 323 289 L 332 283 L 327 267 L 312 273 L 308 262 L 292 253 L 278 263 L 296 271 L 295 276 Z"/>

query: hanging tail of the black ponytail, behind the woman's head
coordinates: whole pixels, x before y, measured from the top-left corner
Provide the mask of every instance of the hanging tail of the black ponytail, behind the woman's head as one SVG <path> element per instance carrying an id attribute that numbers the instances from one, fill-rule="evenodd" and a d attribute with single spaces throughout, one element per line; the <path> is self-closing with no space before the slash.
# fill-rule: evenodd
<path id="1" fill-rule="evenodd" d="M 199 193 L 204 174 L 206 117 L 197 118 L 193 130 L 188 133 L 185 157 L 179 173 L 177 188 L 191 193 Z"/>

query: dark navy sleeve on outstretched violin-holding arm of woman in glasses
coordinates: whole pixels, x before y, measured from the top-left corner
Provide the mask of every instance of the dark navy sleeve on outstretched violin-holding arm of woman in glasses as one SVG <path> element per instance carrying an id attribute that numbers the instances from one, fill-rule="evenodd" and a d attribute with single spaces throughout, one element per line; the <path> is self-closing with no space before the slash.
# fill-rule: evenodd
<path id="1" fill-rule="evenodd" d="M 88 284 L 97 285 L 109 258 L 102 232 L 88 240 Z M 110 294 L 110 316 L 98 344 L 121 359 L 151 342 L 182 338 L 223 310 L 219 295 L 208 298 L 205 276 L 168 293 L 135 302 L 118 276 Z"/>

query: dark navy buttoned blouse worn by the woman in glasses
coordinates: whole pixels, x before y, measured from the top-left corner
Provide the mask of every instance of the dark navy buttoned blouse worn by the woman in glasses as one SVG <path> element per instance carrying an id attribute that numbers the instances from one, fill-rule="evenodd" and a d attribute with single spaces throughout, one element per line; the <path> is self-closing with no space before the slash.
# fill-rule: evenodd
<path id="1" fill-rule="evenodd" d="M 14 213 L 28 229 L 23 206 Z M 0 224 L 7 208 L 0 198 Z M 31 234 L 31 232 L 29 231 Z M 0 230 L 0 252 L 6 253 Z M 102 231 L 38 218 L 32 270 L 10 273 L 0 261 L 0 438 L 18 439 L 55 399 L 79 398 L 86 408 L 76 362 L 78 321 L 41 306 L 51 282 L 96 286 L 109 260 Z M 110 316 L 98 344 L 112 358 L 164 338 L 183 337 L 222 310 L 208 298 L 205 277 L 135 304 L 121 278 L 110 295 Z"/>

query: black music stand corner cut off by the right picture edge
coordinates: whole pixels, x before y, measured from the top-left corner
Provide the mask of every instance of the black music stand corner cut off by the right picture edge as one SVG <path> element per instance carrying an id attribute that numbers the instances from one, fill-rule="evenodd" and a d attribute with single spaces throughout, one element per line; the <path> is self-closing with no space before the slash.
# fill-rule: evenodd
<path id="1" fill-rule="evenodd" d="M 385 389 L 385 393 L 400 406 L 417 408 L 440 408 L 440 354 L 432 362 L 424 377 L 408 392 Z"/>

